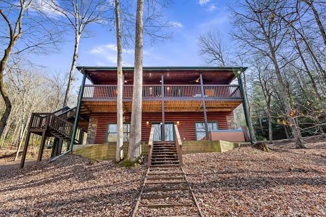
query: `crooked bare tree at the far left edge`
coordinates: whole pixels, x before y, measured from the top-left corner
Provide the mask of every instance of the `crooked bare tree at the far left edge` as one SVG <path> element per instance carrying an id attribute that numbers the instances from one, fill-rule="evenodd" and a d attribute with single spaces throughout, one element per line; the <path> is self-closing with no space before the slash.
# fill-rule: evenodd
<path id="1" fill-rule="evenodd" d="M 6 104 L 6 110 L 0 120 L 0 137 L 12 108 L 4 87 L 4 73 L 6 70 L 10 71 L 15 64 L 11 62 L 11 56 L 20 55 L 19 62 L 32 51 L 45 51 L 49 47 L 55 49 L 53 45 L 59 39 L 59 32 L 53 27 L 53 23 L 46 18 L 42 19 L 32 7 L 32 3 L 33 0 L 0 2 L 0 15 L 3 18 L 0 43 L 4 47 L 0 61 L 0 92 Z M 31 9 L 30 12 L 28 9 Z"/>

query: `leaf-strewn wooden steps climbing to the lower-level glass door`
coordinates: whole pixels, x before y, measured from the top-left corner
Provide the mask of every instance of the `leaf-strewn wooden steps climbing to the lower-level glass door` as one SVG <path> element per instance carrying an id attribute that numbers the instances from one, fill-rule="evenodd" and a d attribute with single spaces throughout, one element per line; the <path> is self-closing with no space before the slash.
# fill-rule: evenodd
<path id="1" fill-rule="evenodd" d="M 182 169 L 182 152 L 176 143 L 180 145 L 175 141 L 152 143 L 150 165 L 132 217 L 203 216 Z"/>

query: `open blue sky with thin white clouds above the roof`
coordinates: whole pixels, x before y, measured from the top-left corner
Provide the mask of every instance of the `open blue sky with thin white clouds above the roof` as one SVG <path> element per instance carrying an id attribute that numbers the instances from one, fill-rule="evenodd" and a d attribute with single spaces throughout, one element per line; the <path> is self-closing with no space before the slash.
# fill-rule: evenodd
<path id="1" fill-rule="evenodd" d="M 175 0 L 167 17 L 176 23 L 174 37 L 164 44 L 144 46 L 144 66 L 202 66 L 198 56 L 197 37 L 209 30 L 219 30 L 228 40 L 230 21 L 227 3 L 221 0 Z M 102 26 L 91 27 L 93 36 L 82 38 L 78 50 L 77 66 L 116 66 L 116 36 Z M 51 70 L 69 71 L 73 42 L 66 42 L 60 53 L 38 57 L 37 61 Z M 124 66 L 133 66 L 133 50 L 123 53 Z M 77 80 L 80 73 L 75 72 Z"/>

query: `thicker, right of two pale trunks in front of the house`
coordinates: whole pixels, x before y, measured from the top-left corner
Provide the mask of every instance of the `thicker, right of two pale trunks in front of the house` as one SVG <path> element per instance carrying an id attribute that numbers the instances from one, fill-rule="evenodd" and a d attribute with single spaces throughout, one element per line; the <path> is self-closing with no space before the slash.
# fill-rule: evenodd
<path id="1" fill-rule="evenodd" d="M 137 0 L 134 50 L 133 94 L 130 140 L 127 158 L 135 162 L 142 157 L 142 92 L 143 92 L 143 12 L 144 1 Z"/>

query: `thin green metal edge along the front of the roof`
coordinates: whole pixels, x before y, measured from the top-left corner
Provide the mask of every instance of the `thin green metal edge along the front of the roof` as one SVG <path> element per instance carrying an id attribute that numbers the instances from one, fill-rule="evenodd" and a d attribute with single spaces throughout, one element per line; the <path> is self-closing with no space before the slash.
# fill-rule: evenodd
<path id="1" fill-rule="evenodd" d="M 80 72 L 83 73 L 81 70 L 117 70 L 117 67 L 107 67 L 107 66 L 77 66 L 76 67 Z M 143 70 L 241 70 L 244 71 L 248 67 L 212 67 L 212 66 L 158 66 L 158 67 L 143 67 Z M 122 70 L 125 71 L 132 71 L 134 67 L 122 67 Z"/>

